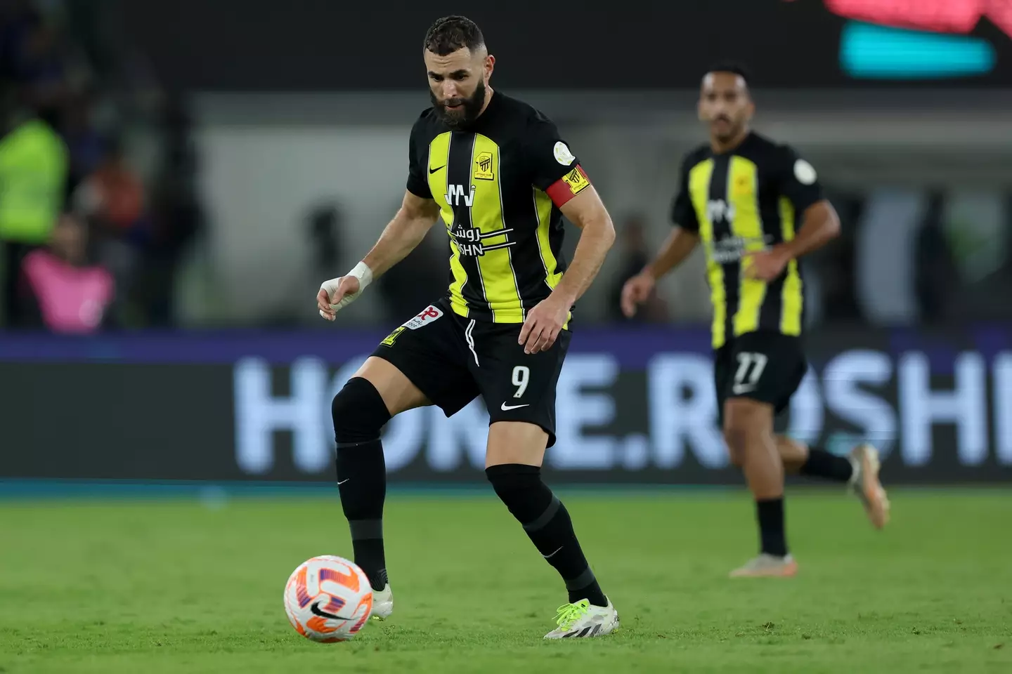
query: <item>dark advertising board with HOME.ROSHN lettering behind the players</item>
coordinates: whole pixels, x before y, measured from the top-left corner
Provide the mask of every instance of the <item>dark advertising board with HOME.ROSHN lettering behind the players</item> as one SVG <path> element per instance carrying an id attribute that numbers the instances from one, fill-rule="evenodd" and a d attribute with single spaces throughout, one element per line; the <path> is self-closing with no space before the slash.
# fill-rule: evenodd
<path id="1" fill-rule="evenodd" d="M 331 397 L 383 333 L 0 336 L 0 476 L 328 481 Z M 809 338 L 792 436 L 887 457 L 890 483 L 1012 481 L 1012 327 Z M 560 381 L 556 482 L 740 484 L 714 427 L 708 335 L 579 331 Z M 480 400 L 388 424 L 392 481 L 480 481 Z"/>

